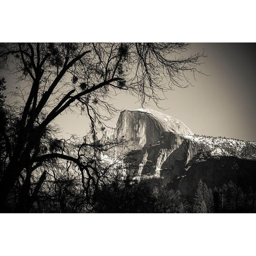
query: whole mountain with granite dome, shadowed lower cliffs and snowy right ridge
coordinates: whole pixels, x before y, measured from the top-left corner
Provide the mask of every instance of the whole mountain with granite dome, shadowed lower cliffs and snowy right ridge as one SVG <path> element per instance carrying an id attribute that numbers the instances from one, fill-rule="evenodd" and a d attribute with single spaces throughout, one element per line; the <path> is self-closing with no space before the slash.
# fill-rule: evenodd
<path id="1" fill-rule="evenodd" d="M 192 195 L 200 179 L 214 188 L 237 175 L 256 174 L 256 143 L 197 137 L 178 119 L 155 110 L 122 111 L 104 140 L 122 138 L 130 142 L 125 150 L 135 175 L 180 189 L 183 195 Z"/>

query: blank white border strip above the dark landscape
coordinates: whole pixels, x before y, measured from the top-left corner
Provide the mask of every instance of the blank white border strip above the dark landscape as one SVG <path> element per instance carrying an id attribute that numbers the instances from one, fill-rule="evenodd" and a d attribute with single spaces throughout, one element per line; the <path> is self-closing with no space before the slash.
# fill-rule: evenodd
<path id="1" fill-rule="evenodd" d="M 253 1 L 1 3 L 0 42 L 255 42 Z"/>

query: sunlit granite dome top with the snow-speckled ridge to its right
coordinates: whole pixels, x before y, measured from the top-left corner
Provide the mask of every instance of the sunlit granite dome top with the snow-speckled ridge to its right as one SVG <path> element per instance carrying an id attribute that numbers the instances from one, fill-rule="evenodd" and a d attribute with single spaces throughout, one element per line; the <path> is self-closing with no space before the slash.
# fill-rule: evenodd
<path id="1" fill-rule="evenodd" d="M 175 141 L 166 141 L 165 138 L 167 144 L 176 145 L 178 138 L 180 138 L 178 140 L 186 139 L 190 144 L 193 143 L 194 147 L 209 153 L 208 156 L 236 156 L 247 159 L 256 157 L 256 143 L 254 142 L 197 136 L 178 119 L 148 108 L 123 110 L 115 127 L 106 130 L 105 139 L 120 140 L 123 138 L 131 142 L 127 150 L 140 150 L 143 147 L 159 145 L 166 132 L 171 132 L 176 136 Z"/>

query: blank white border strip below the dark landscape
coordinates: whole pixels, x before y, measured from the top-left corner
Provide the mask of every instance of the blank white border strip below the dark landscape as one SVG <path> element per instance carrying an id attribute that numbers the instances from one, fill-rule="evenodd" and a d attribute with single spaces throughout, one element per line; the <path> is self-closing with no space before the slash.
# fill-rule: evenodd
<path id="1" fill-rule="evenodd" d="M 254 214 L 2 214 L 1 217 L 3 255 L 215 256 L 251 255 L 255 250 Z"/>

